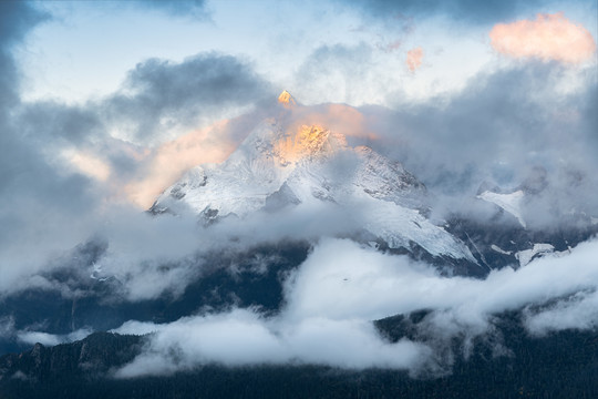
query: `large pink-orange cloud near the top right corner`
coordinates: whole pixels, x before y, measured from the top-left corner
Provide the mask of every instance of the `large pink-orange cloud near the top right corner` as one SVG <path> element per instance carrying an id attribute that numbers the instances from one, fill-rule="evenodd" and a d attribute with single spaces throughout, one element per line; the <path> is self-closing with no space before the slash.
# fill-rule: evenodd
<path id="1" fill-rule="evenodd" d="M 536 20 L 498 23 L 489 32 L 492 47 L 513 58 L 537 58 L 579 63 L 596 52 L 596 41 L 581 24 L 563 12 L 538 14 Z"/>

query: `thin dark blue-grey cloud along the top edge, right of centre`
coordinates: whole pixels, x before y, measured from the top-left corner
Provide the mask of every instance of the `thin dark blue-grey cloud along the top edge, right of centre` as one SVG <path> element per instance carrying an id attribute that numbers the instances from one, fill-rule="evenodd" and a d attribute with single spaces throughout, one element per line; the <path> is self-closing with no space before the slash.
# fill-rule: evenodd
<path id="1" fill-rule="evenodd" d="M 539 0 L 353 0 L 349 3 L 377 18 L 441 14 L 473 24 L 491 24 L 517 17 L 518 13 L 537 8 L 543 2 Z"/>

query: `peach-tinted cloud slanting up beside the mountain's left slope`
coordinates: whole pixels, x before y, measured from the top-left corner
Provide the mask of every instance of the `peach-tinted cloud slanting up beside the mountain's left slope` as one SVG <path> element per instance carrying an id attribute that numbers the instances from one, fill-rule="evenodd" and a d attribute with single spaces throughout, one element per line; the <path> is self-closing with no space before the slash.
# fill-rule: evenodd
<path id="1" fill-rule="evenodd" d="M 125 186 L 128 200 L 142 208 L 150 207 L 156 197 L 193 166 L 221 162 L 235 149 L 234 143 L 221 139 L 228 121 L 185 134 L 167 142 L 147 156 L 147 170 L 140 180 Z"/>

